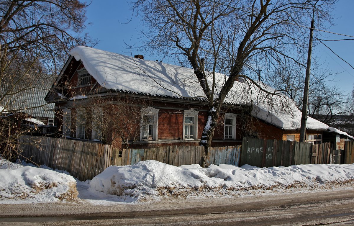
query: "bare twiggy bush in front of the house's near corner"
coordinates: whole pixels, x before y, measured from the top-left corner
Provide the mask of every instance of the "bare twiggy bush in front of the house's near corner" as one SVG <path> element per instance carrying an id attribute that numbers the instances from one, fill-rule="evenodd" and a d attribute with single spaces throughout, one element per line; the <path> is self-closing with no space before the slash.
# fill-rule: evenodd
<path id="1" fill-rule="evenodd" d="M 80 119 L 76 114 L 75 120 L 85 123 L 90 139 L 104 144 L 118 142 L 124 145 L 123 148 L 129 148 L 140 140 L 141 109 L 147 108 L 149 101 L 134 96 L 107 95 L 89 98 L 84 105 L 78 106 L 85 117 Z"/>

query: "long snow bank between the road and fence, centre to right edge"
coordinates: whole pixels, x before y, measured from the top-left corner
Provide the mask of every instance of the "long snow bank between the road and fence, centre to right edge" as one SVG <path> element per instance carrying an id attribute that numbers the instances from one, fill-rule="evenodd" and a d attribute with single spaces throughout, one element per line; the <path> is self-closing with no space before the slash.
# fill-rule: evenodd
<path id="1" fill-rule="evenodd" d="M 255 168 L 249 165 L 172 166 L 155 160 L 131 166 L 110 166 L 94 177 L 91 192 L 122 199 L 176 197 L 223 197 L 289 188 L 328 188 L 354 181 L 354 164 L 292 165 Z"/>

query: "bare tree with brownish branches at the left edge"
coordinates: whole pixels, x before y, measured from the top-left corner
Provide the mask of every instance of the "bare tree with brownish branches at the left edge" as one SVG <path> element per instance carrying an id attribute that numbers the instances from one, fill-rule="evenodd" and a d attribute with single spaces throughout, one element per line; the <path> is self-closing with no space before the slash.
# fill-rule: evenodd
<path id="1" fill-rule="evenodd" d="M 13 130 L 16 126 L 5 117 L 28 108 L 18 103 L 18 95 L 52 84 L 72 47 L 93 44 L 80 34 L 86 27 L 86 6 L 79 0 L 0 1 L 0 113 L 7 125 L 0 130 L 6 141 L 2 153 L 16 149 L 22 131 Z"/>

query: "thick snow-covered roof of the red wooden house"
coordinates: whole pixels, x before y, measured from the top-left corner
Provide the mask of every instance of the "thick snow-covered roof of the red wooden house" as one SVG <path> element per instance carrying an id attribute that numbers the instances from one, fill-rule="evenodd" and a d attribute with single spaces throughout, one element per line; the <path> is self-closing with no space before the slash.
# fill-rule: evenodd
<path id="1" fill-rule="evenodd" d="M 106 89 L 128 91 L 147 95 L 168 97 L 204 98 L 199 81 L 191 68 L 179 67 L 158 61 L 142 60 L 118 53 L 107 52 L 91 47 L 75 47 L 70 54 L 75 60 L 81 60 L 86 70 Z M 226 80 L 223 74 L 217 74 L 217 87 Z M 258 86 L 257 86 L 258 85 Z M 281 129 L 300 128 L 301 112 L 295 102 L 279 94 L 269 95 L 275 90 L 258 83 L 235 81 L 225 102 L 252 106 L 251 114 Z M 327 130 L 328 126 L 313 118 L 308 118 L 307 129 Z"/>

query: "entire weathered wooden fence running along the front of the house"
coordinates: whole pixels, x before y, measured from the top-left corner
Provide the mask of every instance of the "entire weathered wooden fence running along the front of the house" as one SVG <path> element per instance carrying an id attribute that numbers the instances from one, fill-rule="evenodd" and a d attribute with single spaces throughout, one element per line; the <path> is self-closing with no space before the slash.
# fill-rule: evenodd
<path id="1" fill-rule="evenodd" d="M 119 149 L 87 141 L 52 137 L 23 136 L 19 139 L 22 160 L 65 170 L 81 181 L 92 179 L 110 165 L 133 165 L 157 160 L 180 166 L 189 164 L 249 164 L 258 167 L 293 164 L 354 163 L 354 142 L 345 149 L 332 150 L 329 143 L 312 145 L 294 141 L 261 140 L 244 137 L 242 146 L 212 147 L 208 157 L 200 146 L 163 146 L 146 149 Z"/>

